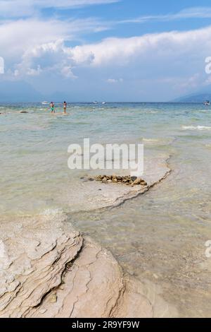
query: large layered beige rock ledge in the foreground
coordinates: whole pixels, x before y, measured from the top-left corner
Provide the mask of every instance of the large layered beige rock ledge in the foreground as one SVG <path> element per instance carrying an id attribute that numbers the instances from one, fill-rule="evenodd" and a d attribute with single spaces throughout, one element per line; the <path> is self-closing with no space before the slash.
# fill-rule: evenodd
<path id="1" fill-rule="evenodd" d="M 63 213 L 0 222 L 0 317 L 162 317 L 175 311 Z"/>

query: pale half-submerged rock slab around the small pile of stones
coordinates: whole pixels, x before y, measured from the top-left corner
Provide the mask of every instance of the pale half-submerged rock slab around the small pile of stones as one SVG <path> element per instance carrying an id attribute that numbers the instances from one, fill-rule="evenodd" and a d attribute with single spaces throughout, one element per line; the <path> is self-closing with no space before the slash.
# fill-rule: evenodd
<path id="1" fill-rule="evenodd" d="M 143 173 L 143 179 L 146 184 L 143 186 L 89 181 L 85 177 L 79 183 L 72 184 L 71 188 L 67 189 L 67 192 L 63 194 L 62 199 L 68 204 L 71 212 L 92 211 L 98 208 L 118 206 L 128 199 L 144 194 L 152 186 L 165 179 L 171 172 L 167 165 L 168 158 L 169 156 L 166 154 L 159 158 L 146 158 Z M 120 175 L 124 176 L 124 172 L 121 171 Z M 91 176 L 94 177 L 94 174 Z"/>

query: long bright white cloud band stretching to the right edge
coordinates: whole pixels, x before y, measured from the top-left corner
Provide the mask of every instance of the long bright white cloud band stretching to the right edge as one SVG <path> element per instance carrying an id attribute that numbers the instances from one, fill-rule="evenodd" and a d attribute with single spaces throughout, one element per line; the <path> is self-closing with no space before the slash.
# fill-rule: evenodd
<path id="1" fill-rule="evenodd" d="M 200 58 L 202 54 L 211 53 L 210 34 L 211 27 L 207 27 L 186 32 L 108 38 L 96 44 L 69 48 L 67 52 L 75 64 L 84 64 L 87 60 L 91 66 L 127 66 L 133 61 L 149 64 L 150 59 L 160 58 L 171 62 L 178 57 L 186 64 L 190 57 Z"/>

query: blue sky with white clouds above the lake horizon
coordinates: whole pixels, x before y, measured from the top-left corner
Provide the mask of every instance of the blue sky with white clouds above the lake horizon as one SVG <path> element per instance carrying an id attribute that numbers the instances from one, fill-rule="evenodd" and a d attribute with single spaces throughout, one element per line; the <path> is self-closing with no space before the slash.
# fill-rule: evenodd
<path id="1" fill-rule="evenodd" d="M 0 0 L 0 101 L 155 102 L 209 90 L 210 36 L 210 0 Z"/>

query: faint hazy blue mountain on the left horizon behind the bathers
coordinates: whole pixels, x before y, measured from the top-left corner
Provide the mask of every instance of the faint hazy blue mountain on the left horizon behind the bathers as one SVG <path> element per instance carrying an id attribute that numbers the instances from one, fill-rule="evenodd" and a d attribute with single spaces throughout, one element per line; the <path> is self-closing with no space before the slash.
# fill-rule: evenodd
<path id="1" fill-rule="evenodd" d="M 0 102 L 39 102 L 44 97 L 23 81 L 1 81 Z"/>

